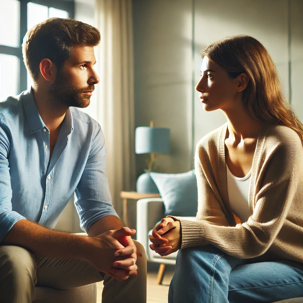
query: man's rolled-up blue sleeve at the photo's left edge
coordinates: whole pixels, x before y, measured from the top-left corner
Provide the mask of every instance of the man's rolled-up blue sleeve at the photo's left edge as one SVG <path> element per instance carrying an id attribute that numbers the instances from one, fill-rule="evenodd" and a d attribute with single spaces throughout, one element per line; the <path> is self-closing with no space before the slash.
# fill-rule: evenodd
<path id="1" fill-rule="evenodd" d="M 8 165 L 9 150 L 8 136 L 0 119 L 0 243 L 17 221 L 26 219 L 18 212 L 12 211 L 12 186 Z"/>

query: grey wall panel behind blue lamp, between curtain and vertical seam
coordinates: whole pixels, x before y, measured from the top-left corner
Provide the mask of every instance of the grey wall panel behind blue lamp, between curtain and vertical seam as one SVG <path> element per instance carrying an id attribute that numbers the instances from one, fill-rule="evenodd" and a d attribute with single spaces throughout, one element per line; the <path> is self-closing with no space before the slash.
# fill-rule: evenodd
<path id="1" fill-rule="evenodd" d="M 171 130 L 171 152 L 160 155 L 163 172 L 191 167 L 192 5 L 184 0 L 133 1 L 135 127 Z M 137 174 L 146 167 L 137 155 Z"/>

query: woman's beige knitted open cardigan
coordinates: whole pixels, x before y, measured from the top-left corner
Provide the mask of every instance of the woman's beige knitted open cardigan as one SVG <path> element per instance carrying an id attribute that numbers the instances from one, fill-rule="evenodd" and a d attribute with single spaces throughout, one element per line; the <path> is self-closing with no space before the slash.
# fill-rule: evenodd
<path id="1" fill-rule="evenodd" d="M 247 222 L 235 223 L 228 201 L 227 123 L 200 140 L 195 169 L 196 221 L 181 222 L 181 248 L 213 244 L 238 258 L 270 255 L 303 262 L 303 148 L 291 128 L 264 122 L 251 168 Z M 263 256 L 264 256 L 263 255 Z"/>

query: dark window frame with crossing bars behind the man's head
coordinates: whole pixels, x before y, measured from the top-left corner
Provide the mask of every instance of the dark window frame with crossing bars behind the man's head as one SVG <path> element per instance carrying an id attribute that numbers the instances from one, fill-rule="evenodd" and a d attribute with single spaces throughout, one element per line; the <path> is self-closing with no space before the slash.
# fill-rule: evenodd
<path id="1" fill-rule="evenodd" d="M 58 8 L 68 12 L 68 17 L 75 18 L 75 1 L 74 0 L 18 0 L 20 2 L 19 10 L 19 33 L 20 40 L 18 47 L 0 45 L 0 54 L 13 55 L 19 58 L 19 78 L 18 78 L 18 94 L 27 89 L 27 70 L 22 57 L 22 42 L 27 32 L 27 4 L 33 2 L 45 5 L 48 8 Z"/>

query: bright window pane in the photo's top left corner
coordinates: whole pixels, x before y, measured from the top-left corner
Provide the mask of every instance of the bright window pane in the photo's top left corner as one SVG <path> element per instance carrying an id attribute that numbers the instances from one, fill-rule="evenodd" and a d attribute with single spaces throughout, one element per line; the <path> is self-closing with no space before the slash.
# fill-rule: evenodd
<path id="1" fill-rule="evenodd" d="M 20 2 L 5 0 L 0 4 L 0 44 L 18 47 L 20 43 Z"/>

